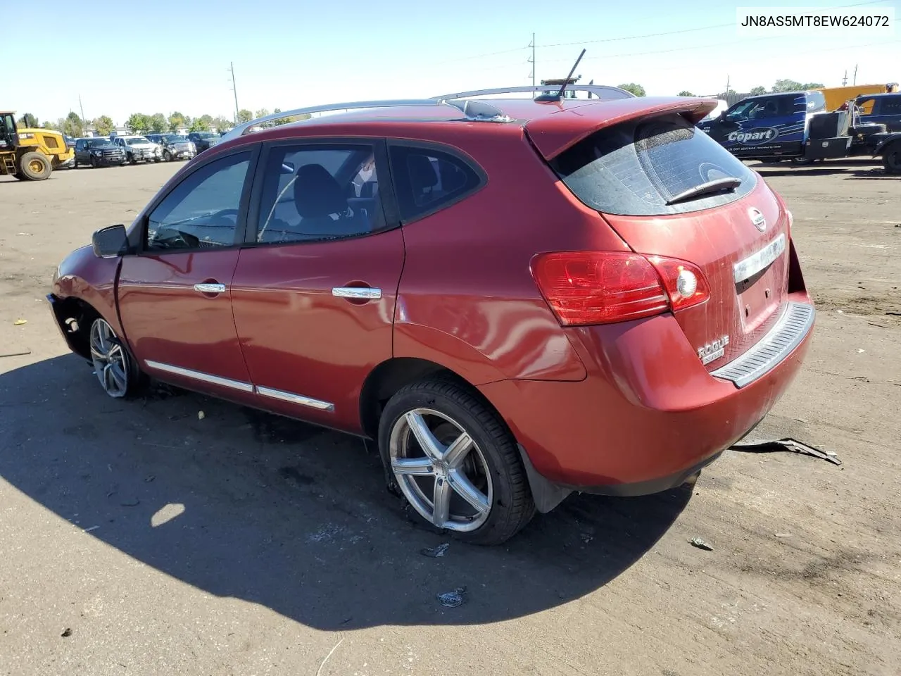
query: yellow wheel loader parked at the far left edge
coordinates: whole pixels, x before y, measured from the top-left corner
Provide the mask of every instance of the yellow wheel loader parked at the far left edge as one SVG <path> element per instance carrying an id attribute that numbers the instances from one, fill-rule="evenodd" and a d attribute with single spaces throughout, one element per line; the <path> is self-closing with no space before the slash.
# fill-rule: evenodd
<path id="1" fill-rule="evenodd" d="M 0 176 L 41 181 L 74 157 L 61 133 L 19 129 L 13 112 L 0 110 Z"/>

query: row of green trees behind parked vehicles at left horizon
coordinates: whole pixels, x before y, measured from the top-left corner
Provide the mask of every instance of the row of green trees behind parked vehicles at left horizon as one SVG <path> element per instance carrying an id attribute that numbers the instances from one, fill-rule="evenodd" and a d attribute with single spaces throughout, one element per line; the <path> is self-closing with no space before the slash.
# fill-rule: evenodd
<path id="1" fill-rule="evenodd" d="M 281 109 L 276 108 L 272 113 L 281 113 Z M 250 120 L 255 120 L 259 117 L 266 117 L 268 114 L 269 111 L 266 108 L 260 108 L 256 113 L 246 108 L 241 109 L 238 111 L 238 123 L 250 122 Z M 309 115 L 305 115 L 305 117 L 309 117 Z M 279 117 L 263 126 L 277 126 L 278 124 L 291 122 L 293 119 L 295 118 Z M 87 127 L 93 128 L 97 136 L 109 136 L 116 128 L 113 118 L 109 115 L 100 115 L 93 120 L 82 120 L 75 112 L 70 112 L 66 117 L 60 117 L 56 122 L 45 121 L 44 123 L 41 123 L 31 113 L 25 113 L 18 119 L 18 123 L 23 127 L 53 129 L 73 138 L 84 137 Z M 222 115 L 214 117 L 210 114 L 203 114 L 198 117 L 191 117 L 179 112 L 168 115 L 162 113 L 132 113 L 123 126 L 130 132 L 137 134 L 176 132 L 178 129 L 187 129 L 189 132 L 207 132 L 215 129 L 218 132 L 222 132 L 223 130 L 231 129 L 234 123 Z"/>

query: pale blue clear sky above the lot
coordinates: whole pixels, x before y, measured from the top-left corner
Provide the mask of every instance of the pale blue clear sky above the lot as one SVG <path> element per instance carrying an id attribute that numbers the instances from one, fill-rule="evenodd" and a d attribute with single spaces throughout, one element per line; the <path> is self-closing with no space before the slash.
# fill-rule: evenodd
<path id="1" fill-rule="evenodd" d="M 232 62 L 238 104 L 251 111 L 528 85 L 532 32 L 539 83 L 565 77 L 583 47 L 580 82 L 635 82 L 651 96 L 711 95 L 727 79 L 739 92 L 778 78 L 840 86 L 855 67 L 857 84 L 901 81 L 901 30 L 742 34 L 736 7 L 748 5 L 890 7 L 901 19 L 901 0 L 157 0 L 152 13 L 45 0 L 39 14 L 58 15 L 68 40 L 54 35 L 34 50 L 31 31 L 7 31 L 5 53 L 27 53 L 28 74 L 4 78 L 0 108 L 56 120 L 80 113 L 80 96 L 89 120 L 174 111 L 232 119 Z M 18 18 L 28 13 L 20 5 Z"/>

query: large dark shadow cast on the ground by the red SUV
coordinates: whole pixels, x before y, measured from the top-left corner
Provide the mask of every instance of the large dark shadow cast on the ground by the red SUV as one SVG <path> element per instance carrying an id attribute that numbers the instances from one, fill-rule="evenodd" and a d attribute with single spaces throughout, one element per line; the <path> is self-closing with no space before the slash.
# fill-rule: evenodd
<path id="1" fill-rule="evenodd" d="M 15 489 L 178 580 L 323 630 L 496 622 L 582 597 L 692 495 L 574 495 L 477 547 L 405 518 L 355 437 L 177 389 L 114 400 L 74 355 L 0 374 L 0 414 L 0 476 Z M 442 607 L 459 588 L 466 602 Z"/>

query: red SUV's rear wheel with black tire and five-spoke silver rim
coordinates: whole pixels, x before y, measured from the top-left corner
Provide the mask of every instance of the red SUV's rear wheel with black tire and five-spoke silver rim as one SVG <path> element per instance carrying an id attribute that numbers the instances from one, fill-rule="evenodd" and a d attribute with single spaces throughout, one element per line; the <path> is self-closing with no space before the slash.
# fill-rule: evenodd
<path id="1" fill-rule="evenodd" d="M 415 514 L 473 544 L 501 544 L 535 513 L 513 435 L 455 382 L 398 390 L 378 427 L 388 475 Z"/>

